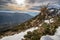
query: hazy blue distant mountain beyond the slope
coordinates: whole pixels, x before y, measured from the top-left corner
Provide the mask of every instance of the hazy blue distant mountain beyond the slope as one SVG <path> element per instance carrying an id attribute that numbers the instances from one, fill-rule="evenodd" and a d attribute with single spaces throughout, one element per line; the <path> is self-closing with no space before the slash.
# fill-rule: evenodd
<path id="1" fill-rule="evenodd" d="M 26 13 L 0 12 L 0 31 L 2 29 L 5 30 L 12 26 L 16 26 L 17 24 L 21 24 L 32 17 L 33 16 Z"/>

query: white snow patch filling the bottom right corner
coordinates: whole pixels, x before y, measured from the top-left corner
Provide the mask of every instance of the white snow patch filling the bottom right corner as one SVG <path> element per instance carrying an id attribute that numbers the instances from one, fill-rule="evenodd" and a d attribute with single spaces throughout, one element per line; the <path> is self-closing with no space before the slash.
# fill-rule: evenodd
<path id="1" fill-rule="evenodd" d="M 40 40 L 60 40 L 60 27 L 57 28 L 55 35 L 53 35 L 53 36 L 50 36 L 50 35 L 42 36 Z"/>

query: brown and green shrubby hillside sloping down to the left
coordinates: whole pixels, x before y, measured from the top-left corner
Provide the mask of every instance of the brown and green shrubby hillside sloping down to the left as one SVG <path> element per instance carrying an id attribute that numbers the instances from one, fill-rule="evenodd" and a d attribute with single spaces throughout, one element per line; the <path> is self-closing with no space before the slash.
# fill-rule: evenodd
<path id="1" fill-rule="evenodd" d="M 57 14 L 58 12 L 56 11 L 48 10 L 47 7 L 42 7 L 40 11 L 40 14 L 34 18 L 16 26 L 15 28 L 6 30 L 4 33 L 1 32 L 1 37 L 6 35 L 13 35 L 32 27 L 38 27 L 38 29 L 34 30 L 33 32 L 27 32 L 27 34 L 24 36 L 25 39 L 23 40 L 40 40 L 40 37 L 43 35 L 53 35 L 56 31 L 56 28 L 60 26 L 60 15 Z M 53 13 L 55 15 L 52 15 Z M 51 23 L 50 19 L 52 18 L 54 22 Z M 49 20 L 49 23 L 46 23 L 45 20 Z"/>

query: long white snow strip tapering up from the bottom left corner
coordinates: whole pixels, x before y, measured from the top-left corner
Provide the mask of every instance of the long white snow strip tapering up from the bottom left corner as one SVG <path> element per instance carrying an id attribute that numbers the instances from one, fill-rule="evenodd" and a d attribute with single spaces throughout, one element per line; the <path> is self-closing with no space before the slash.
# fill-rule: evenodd
<path id="1" fill-rule="evenodd" d="M 5 36 L 0 40 L 21 40 L 22 38 L 24 38 L 24 35 L 27 34 L 28 31 L 34 31 L 36 29 L 38 29 L 38 27 L 30 28 L 30 29 L 28 29 L 24 32 L 20 32 L 19 34 L 15 34 L 15 35 L 12 35 L 12 36 Z"/>

